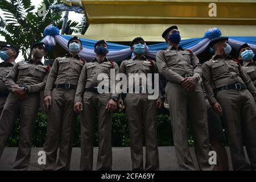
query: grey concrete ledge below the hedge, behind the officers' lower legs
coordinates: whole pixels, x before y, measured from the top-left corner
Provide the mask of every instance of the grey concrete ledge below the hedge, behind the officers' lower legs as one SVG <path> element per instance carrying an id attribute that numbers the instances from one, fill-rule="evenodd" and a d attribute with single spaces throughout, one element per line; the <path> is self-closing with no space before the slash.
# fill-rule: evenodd
<path id="1" fill-rule="evenodd" d="M 143 148 L 145 149 L 145 148 Z M 43 165 L 38 164 L 38 152 L 42 151 L 43 148 L 32 148 L 31 151 L 31 160 L 30 167 L 28 170 L 31 171 L 40 171 L 43 169 Z M 193 147 L 190 147 L 192 158 L 196 163 L 196 169 L 198 168 L 198 164 L 195 158 L 195 152 Z M 232 164 L 230 163 L 230 153 L 229 148 L 226 147 L 228 151 L 229 158 L 229 167 L 232 169 Z M 2 158 L 0 160 L 0 171 L 9 171 L 13 167 L 13 163 L 16 157 L 17 148 L 9 148 L 6 147 L 3 152 Z M 131 154 L 129 147 L 113 147 L 113 170 L 114 171 L 130 171 L 131 170 Z M 245 151 L 246 152 L 246 151 Z M 145 152 L 144 152 L 145 154 Z M 93 158 L 93 169 L 96 169 L 96 160 L 98 155 L 98 147 L 94 148 L 94 158 Z M 246 159 L 247 154 L 246 154 Z M 159 162 L 160 162 L 160 170 L 161 171 L 177 171 L 179 170 L 176 155 L 174 151 L 174 147 L 159 147 Z M 72 158 L 71 158 L 71 171 L 79 171 L 80 165 L 80 148 L 73 148 Z"/>

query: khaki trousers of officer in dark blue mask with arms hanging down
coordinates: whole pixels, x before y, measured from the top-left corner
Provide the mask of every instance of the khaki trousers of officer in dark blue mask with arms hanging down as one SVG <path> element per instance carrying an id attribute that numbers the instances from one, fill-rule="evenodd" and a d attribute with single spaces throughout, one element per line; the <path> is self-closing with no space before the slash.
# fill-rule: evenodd
<path id="1" fill-rule="evenodd" d="M 110 93 L 85 92 L 82 98 L 81 119 L 81 161 L 83 171 L 93 169 L 94 126 L 98 119 L 98 159 L 97 170 L 112 170 L 112 112 L 106 109 Z"/>

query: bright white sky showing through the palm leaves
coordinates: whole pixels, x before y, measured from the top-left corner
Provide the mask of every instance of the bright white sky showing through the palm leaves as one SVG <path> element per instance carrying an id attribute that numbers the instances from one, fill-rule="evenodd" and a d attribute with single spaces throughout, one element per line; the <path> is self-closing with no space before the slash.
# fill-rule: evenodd
<path id="1" fill-rule="evenodd" d="M 39 5 L 40 5 L 40 2 L 42 2 L 42 1 L 32 1 L 31 3 L 32 3 L 32 5 L 34 5 L 35 7 L 38 7 Z M 61 13 L 61 12 L 60 12 Z M 64 15 L 64 13 L 63 13 L 63 15 Z M 5 19 L 4 18 L 4 15 L 3 15 L 3 11 L 1 11 L 0 10 L 0 16 L 3 18 L 3 19 Z M 82 19 L 82 14 L 78 14 L 78 13 L 75 13 L 75 12 L 73 12 L 73 11 L 71 11 L 71 12 L 69 12 L 69 16 L 68 16 L 68 18 L 69 19 L 71 19 L 72 21 L 76 21 L 76 22 L 80 22 L 81 21 L 81 19 Z M 0 41 L 5 41 L 5 37 L 3 37 L 3 36 L 0 36 Z M 16 59 L 16 62 L 19 62 L 19 61 L 22 61 L 22 60 L 24 60 L 24 57 L 23 57 L 23 55 L 22 55 L 22 53 L 20 52 L 19 53 L 19 56 L 17 57 L 17 59 Z M 44 60 L 43 60 L 44 61 Z M 2 60 L 0 59 L 0 62 L 2 62 Z"/>

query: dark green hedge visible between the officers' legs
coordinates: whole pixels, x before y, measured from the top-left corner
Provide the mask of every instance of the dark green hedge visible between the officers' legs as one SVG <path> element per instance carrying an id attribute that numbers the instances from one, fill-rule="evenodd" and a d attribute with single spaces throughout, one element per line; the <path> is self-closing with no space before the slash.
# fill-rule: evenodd
<path id="1" fill-rule="evenodd" d="M 77 125 L 75 130 L 75 138 L 73 147 L 80 147 L 80 121 L 81 115 L 77 118 Z M 156 117 L 158 126 L 158 145 L 159 146 L 173 146 L 172 129 L 170 117 L 168 115 L 159 114 Z M 112 145 L 113 147 L 127 147 L 129 146 L 129 130 L 125 113 L 113 114 L 113 127 L 112 127 Z M 98 146 L 98 130 L 97 121 L 95 127 L 94 146 Z M 8 147 L 17 147 L 20 130 L 20 119 L 17 119 L 14 124 L 14 131 L 11 135 Z M 35 123 L 35 133 L 32 139 L 33 147 L 43 147 L 47 133 L 47 115 L 39 113 Z M 193 137 L 191 131 L 188 130 L 189 146 L 193 146 Z"/>

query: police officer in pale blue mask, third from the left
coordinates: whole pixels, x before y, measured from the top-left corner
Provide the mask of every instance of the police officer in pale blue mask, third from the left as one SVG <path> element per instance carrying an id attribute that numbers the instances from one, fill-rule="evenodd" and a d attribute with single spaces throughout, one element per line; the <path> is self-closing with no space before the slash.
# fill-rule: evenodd
<path id="1" fill-rule="evenodd" d="M 77 82 L 85 60 L 81 59 L 81 40 L 74 36 L 68 42 L 69 53 L 58 57 L 49 73 L 44 90 L 48 109 L 47 138 L 44 144 L 44 170 L 69 170 L 77 114 L 73 111 Z M 59 160 L 57 148 L 60 139 Z"/>

